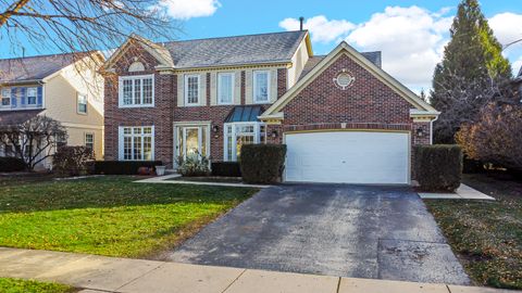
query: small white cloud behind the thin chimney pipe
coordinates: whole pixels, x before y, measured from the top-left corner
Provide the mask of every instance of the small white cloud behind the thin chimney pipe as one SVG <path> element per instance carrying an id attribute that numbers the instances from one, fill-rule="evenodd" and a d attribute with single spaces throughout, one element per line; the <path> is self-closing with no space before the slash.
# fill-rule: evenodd
<path id="1" fill-rule="evenodd" d="M 279 27 L 286 30 L 298 30 L 299 20 L 285 18 L 279 22 Z M 331 42 L 345 38 L 356 27 L 355 24 L 345 20 L 331 20 L 324 15 L 313 16 L 303 23 L 303 28 L 310 30 L 312 41 Z"/>

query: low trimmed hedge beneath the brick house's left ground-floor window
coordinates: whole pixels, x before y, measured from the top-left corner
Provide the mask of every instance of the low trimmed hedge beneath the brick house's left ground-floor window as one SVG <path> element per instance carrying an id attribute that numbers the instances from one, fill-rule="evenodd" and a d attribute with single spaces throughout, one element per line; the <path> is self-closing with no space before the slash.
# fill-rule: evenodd
<path id="1" fill-rule="evenodd" d="M 144 167 L 154 169 L 162 165 L 161 161 L 96 161 L 95 174 L 137 175 L 142 174 Z"/>

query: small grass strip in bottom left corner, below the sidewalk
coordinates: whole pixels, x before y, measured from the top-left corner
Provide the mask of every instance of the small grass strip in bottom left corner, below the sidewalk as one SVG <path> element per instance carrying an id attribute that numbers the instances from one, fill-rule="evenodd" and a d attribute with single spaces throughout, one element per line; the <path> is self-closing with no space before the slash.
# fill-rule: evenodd
<path id="1" fill-rule="evenodd" d="M 0 292 L 2 293 L 70 293 L 75 291 L 63 284 L 0 278 Z"/>

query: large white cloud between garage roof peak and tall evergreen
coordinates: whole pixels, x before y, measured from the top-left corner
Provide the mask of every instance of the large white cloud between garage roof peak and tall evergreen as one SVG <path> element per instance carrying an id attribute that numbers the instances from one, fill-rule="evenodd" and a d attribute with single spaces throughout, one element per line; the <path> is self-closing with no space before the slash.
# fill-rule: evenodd
<path id="1" fill-rule="evenodd" d="M 360 50 L 381 50 L 383 68 L 410 87 L 430 88 L 452 17 L 447 9 L 388 7 L 359 24 L 347 41 Z"/>

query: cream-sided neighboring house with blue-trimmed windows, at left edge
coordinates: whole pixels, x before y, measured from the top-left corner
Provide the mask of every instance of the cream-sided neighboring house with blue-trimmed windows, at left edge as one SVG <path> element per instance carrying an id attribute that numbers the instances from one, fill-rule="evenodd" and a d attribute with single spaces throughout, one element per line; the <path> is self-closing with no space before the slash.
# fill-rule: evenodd
<path id="1" fill-rule="evenodd" d="M 103 62 L 100 52 L 0 60 L 0 126 L 46 115 L 66 128 L 64 144 L 92 148 L 102 160 L 103 78 L 97 69 Z M 12 151 L 0 146 L 0 155 Z"/>

